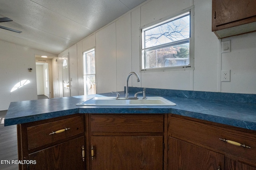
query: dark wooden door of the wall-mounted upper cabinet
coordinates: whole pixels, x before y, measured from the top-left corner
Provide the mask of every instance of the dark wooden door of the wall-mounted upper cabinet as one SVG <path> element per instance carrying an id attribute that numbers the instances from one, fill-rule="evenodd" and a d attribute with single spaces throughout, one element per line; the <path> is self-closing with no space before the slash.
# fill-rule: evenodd
<path id="1" fill-rule="evenodd" d="M 256 16 L 255 0 L 213 0 L 216 26 Z"/>

